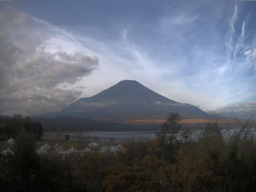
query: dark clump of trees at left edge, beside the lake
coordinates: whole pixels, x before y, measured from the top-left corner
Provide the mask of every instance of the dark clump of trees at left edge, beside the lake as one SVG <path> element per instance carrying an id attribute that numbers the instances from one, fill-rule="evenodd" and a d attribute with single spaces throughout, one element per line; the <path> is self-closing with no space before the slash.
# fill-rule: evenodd
<path id="1" fill-rule="evenodd" d="M 27 134 L 33 134 L 36 140 L 40 140 L 43 135 L 42 124 L 32 121 L 29 116 L 23 118 L 22 115 L 15 114 L 13 118 L 0 119 L 0 138 L 2 140 L 16 139 L 22 130 Z"/>

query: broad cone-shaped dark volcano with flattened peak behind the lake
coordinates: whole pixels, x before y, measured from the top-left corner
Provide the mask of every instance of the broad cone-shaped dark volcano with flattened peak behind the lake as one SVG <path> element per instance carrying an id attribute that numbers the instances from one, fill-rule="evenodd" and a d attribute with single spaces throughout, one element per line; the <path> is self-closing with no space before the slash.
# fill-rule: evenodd
<path id="1" fill-rule="evenodd" d="M 165 119 L 169 112 L 178 112 L 182 118 L 211 118 L 193 105 L 170 100 L 134 80 L 123 80 L 92 97 L 80 98 L 56 115 L 124 121 Z"/>

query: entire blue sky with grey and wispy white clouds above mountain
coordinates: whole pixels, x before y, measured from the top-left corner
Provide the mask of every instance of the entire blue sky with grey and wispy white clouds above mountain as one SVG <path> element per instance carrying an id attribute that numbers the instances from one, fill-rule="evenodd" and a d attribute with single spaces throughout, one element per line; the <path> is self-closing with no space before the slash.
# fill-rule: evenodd
<path id="1" fill-rule="evenodd" d="M 121 80 L 256 114 L 256 1 L 0 1 L 0 114 L 60 110 Z"/>

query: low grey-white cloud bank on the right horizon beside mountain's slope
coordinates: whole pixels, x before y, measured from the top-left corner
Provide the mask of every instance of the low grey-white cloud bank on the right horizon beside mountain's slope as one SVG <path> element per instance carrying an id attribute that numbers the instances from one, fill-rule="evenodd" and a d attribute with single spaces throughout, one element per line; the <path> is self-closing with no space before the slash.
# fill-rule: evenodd
<path id="1" fill-rule="evenodd" d="M 226 117 L 249 118 L 256 115 L 256 101 L 229 104 L 216 110 L 206 110 L 210 114 L 218 114 Z"/>

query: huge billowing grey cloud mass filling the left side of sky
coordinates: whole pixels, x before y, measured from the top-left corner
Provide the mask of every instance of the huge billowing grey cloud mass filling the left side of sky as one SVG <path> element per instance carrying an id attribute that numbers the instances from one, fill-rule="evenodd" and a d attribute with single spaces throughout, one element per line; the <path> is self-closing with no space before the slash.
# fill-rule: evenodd
<path id="1" fill-rule="evenodd" d="M 80 96 L 70 87 L 98 58 L 85 55 L 64 30 L 11 8 L 0 8 L 0 26 L 0 114 L 51 112 Z"/>

